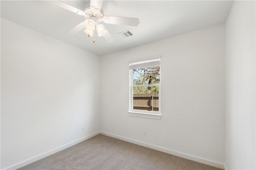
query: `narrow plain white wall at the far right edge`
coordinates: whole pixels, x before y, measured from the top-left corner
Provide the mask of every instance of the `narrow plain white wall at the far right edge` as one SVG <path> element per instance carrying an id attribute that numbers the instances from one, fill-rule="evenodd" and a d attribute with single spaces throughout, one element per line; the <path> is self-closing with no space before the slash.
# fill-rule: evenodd
<path id="1" fill-rule="evenodd" d="M 255 1 L 234 1 L 226 21 L 226 168 L 255 165 Z"/>

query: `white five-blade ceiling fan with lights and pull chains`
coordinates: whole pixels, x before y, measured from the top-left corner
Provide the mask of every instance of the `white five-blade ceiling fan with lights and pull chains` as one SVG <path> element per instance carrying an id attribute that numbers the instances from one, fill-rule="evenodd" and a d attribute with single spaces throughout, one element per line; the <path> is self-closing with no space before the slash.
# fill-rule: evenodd
<path id="1" fill-rule="evenodd" d="M 108 32 L 108 30 L 104 27 L 101 22 L 111 23 L 111 24 L 120 24 L 120 25 L 130 25 L 130 26 L 138 26 L 140 23 L 138 18 L 127 18 L 127 17 L 118 17 L 118 16 L 105 16 L 103 10 L 101 9 L 103 0 L 90 0 L 90 7 L 84 10 L 79 10 L 65 2 L 60 0 L 53 0 L 51 3 L 60 6 L 66 10 L 72 11 L 78 15 L 84 16 L 86 19 L 67 31 L 66 33 L 78 33 L 84 29 L 84 32 L 88 34 L 88 36 L 94 36 L 94 32 L 97 31 L 98 36 L 103 36 L 106 41 L 112 42 L 114 39 Z M 93 39 L 93 42 L 95 40 Z"/>

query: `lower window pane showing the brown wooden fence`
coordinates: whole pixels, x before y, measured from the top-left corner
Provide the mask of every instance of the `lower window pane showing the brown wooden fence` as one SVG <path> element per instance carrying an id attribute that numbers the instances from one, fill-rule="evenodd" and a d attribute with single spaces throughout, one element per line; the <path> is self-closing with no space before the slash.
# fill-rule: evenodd
<path id="1" fill-rule="evenodd" d="M 159 86 L 134 87 L 133 109 L 159 111 Z"/>

